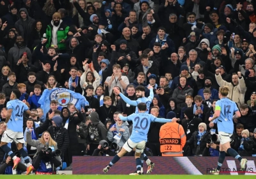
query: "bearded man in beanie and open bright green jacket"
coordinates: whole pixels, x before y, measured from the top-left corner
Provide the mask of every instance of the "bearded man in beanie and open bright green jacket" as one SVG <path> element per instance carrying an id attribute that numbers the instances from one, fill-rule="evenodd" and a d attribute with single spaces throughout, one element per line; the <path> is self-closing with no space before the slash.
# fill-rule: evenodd
<path id="1" fill-rule="evenodd" d="M 49 48 L 51 45 L 58 45 L 60 51 L 65 51 L 68 30 L 69 27 L 61 20 L 60 13 L 54 13 L 51 24 L 46 29 L 46 38 L 48 39 L 46 47 Z"/>

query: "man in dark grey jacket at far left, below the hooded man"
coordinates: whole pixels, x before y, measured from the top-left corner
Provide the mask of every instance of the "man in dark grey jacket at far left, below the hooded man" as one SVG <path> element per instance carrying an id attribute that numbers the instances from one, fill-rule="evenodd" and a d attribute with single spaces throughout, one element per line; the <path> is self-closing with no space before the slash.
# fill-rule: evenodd
<path id="1" fill-rule="evenodd" d="M 28 63 L 31 63 L 31 51 L 28 47 L 26 47 L 26 45 L 24 45 L 24 38 L 22 38 L 21 35 L 18 35 L 14 47 L 12 47 L 8 52 L 7 61 L 10 64 L 10 68 L 12 70 L 15 68 L 15 65 L 18 63 L 20 56 L 24 54 L 24 52 L 26 52 L 26 56 L 29 59 Z"/>

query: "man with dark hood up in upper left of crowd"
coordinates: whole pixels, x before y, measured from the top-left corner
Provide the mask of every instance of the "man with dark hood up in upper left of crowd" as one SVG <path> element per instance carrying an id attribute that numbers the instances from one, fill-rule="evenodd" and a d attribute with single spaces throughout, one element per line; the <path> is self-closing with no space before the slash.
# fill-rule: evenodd
<path id="1" fill-rule="evenodd" d="M 20 19 L 15 22 L 15 28 L 17 29 L 19 35 L 24 38 L 24 42 L 27 43 L 35 19 L 29 17 L 26 8 L 21 8 L 18 15 Z"/>

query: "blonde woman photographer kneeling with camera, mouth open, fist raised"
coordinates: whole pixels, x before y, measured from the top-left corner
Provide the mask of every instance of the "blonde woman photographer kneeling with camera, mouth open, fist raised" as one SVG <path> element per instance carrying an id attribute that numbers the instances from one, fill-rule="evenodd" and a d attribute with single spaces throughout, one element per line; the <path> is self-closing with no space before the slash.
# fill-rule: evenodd
<path id="1" fill-rule="evenodd" d="M 52 164 L 54 167 L 61 166 L 61 151 L 58 150 L 57 143 L 51 138 L 49 132 L 45 131 L 40 139 L 33 140 L 31 130 L 29 130 L 26 138 L 27 143 L 36 147 L 37 150 L 33 157 L 33 164 L 28 167 L 26 175 L 29 175 L 33 169 L 36 170 L 36 174 L 51 174 Z"/>

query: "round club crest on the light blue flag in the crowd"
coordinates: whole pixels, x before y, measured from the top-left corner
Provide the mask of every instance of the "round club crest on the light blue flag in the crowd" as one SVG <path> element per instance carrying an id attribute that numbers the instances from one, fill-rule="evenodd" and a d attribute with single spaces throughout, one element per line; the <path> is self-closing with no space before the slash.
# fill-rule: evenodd
<path id="1" fill-rule="evenodd" d="M 58 105 L 62 107 L 66 106 L 69 103 L 76 105 L 78 102 L 78 100 L 73 97 L 68 89 L 65 88 L 58 88 L 52 91 L 50 95 L 50 101 L 51 100 L 56 100 L 58 102 Z"/>

